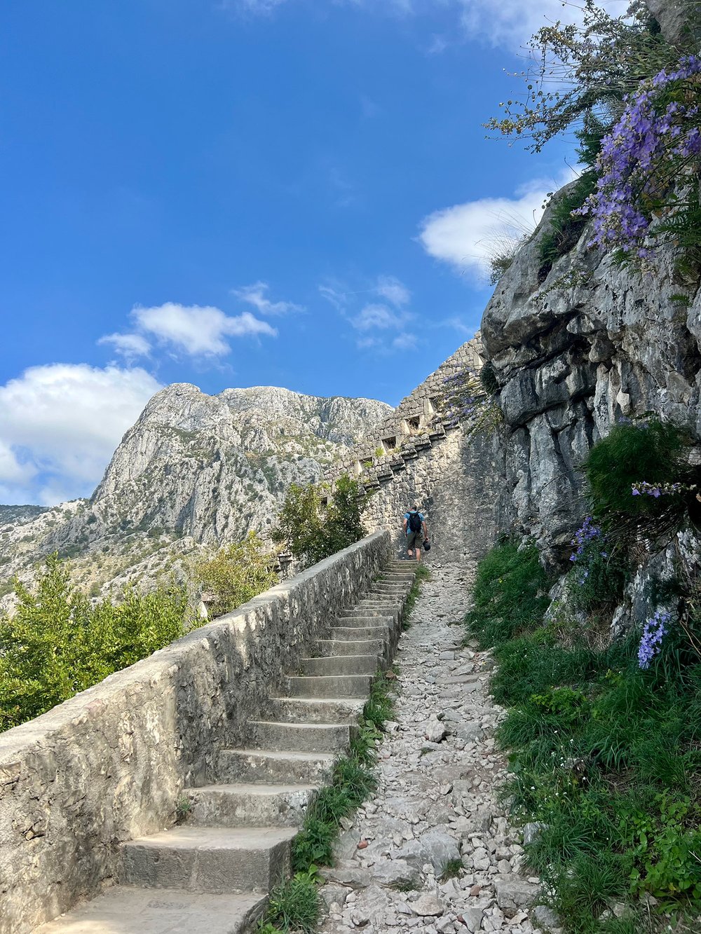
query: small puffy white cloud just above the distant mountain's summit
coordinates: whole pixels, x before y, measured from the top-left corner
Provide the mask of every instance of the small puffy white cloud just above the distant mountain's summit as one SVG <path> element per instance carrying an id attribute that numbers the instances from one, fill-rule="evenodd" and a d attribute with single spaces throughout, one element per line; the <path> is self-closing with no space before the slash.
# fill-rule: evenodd
<path id="1" fill-rule="evenodd" d="M 259 334 L 275 337 L 278 334 L 267 321 L 255 318 L 250 311 L 231 316 L 219 308 L 198 304 L 166 302 L 153 308 L 136 307 L 132 317 L 139 331 L 192 357 L 219 357 L 229 353 L 227 337 Z"/>

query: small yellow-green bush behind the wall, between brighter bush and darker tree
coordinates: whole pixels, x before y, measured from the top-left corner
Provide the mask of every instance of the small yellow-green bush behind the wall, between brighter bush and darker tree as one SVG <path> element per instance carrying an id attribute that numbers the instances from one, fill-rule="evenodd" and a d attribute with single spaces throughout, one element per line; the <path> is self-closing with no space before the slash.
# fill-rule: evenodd
<path id="1" fill-rule="evenodd" d="M 278 574 L 273 571 L 274 563 L 274 556 L 252 531 L 238 545 L 224 545 L 212 558 L 197 563 L 195 580 L 216 595 L 211 615 L 230 613 L 269 587 L 275 587 Z"/>

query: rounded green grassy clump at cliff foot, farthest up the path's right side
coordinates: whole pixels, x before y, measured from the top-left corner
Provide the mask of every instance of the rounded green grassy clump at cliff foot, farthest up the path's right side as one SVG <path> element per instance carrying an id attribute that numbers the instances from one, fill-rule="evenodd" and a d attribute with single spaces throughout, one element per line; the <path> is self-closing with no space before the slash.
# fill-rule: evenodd
<path id="1" fill-rule="evenodd" d="M 534 628 L 548 606 L 548 585 L 535 545 L 496 545 L 479 562 L 467 629 L 488 648 Z"/>

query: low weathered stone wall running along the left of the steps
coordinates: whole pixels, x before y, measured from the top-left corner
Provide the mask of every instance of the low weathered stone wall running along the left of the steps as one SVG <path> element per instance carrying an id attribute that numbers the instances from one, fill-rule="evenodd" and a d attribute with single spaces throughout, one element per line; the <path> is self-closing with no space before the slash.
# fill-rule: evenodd
<path id="1" fill-rule="evenodd" d="M 0 734 L 0 934 L 90 898 L 119 844 L 170 826 L 183 785 L 245 742 L 305 646 L 389 559 L 377 532 L 48 714 Z"/>

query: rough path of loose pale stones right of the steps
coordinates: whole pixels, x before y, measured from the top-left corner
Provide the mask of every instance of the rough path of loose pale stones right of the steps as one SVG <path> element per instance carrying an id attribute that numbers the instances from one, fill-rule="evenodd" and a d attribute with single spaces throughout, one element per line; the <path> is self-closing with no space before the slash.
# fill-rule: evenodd
<path id="1" fill-rule="evenodd" d="M 501 711 L 486 693 L 491 659 L 461 648 L 474 567 L 432 572 L 396 655 L 397 719 L 377 794 L 346 822 L 326 873 L 323 934 L 540 929 L 543 909 L 526 908 L 537 880 L 517 874 L 521 833 L 497 802 L 505 767 L 494 752 Z M 447 865 L 457 874 L 441 882 Z"/>

